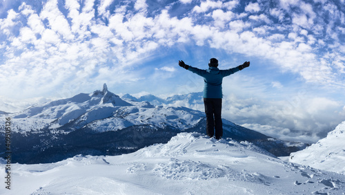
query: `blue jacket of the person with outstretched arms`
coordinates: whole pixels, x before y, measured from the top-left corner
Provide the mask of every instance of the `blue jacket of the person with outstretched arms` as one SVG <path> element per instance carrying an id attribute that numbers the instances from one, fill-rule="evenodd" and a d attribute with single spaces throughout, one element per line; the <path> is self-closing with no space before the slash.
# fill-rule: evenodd
<path id="1" fill-rule="evenodd" d="M 219 70 L 217 67 L 210 67 L 207 70 L 201 70 L 189 66 L 188 71 L 204 77 L 204 98 L 222 98 L 221 83 L 223 82 L 223 77 L 236 73 L 239 71 L 239 68 Z"/>

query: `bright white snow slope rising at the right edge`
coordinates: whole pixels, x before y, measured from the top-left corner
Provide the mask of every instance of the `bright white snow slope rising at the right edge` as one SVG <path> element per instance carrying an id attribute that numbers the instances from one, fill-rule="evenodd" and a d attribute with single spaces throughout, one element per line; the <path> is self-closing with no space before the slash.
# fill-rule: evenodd
<path id="1" fill-rule="evenodd" d="M 290 154 L 290 162 L 345 174 L 345 121 L 326 138 Z"/>

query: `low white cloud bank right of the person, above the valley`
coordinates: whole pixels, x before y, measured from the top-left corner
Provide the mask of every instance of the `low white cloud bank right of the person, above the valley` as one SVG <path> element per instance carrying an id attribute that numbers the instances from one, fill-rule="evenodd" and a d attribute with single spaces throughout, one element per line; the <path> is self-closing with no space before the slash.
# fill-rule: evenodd
<path id="1" fill-rule="evenodd" d="M 342 104 L 324 97 L 298 93 L 282 101 L 269 103 L 225 97 L 223 116 L 237 124 L 256 129 L 283 140 L 316 142 L 325 131 L 342 122 Z M 335 114 L 334 111 L 338 113 Z"/>

